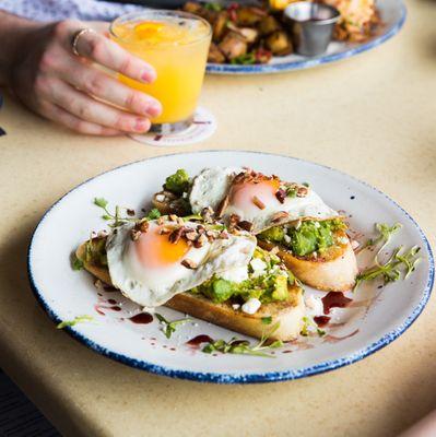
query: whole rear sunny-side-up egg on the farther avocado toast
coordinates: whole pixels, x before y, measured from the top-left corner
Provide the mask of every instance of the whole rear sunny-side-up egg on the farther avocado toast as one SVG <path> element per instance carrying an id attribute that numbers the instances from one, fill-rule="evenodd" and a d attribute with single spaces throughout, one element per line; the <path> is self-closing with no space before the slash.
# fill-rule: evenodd
<path id="1" fill-rule="evenodd" d="M 338 216 L 309 187 L 243 168 L 203 169 L 193 180 L 189 200 L 193 213 L 211 206 L 224 221 L 236 215 L 247 222 L 254 234 L 295 220 Z"/>

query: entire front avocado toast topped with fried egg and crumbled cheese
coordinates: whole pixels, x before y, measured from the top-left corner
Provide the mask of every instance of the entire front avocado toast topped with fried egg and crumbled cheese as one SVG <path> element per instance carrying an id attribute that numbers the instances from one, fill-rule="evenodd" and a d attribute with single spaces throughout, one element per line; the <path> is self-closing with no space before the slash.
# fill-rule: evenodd
<path id="1" fill-rule="evenodd" d="M 177 216 L 130 221 L 76 250 L 83 267 L 131 300 L 168 306 L 251 336 L 295 339 L 303 290 L 281 260 L 244 232 Z"/>

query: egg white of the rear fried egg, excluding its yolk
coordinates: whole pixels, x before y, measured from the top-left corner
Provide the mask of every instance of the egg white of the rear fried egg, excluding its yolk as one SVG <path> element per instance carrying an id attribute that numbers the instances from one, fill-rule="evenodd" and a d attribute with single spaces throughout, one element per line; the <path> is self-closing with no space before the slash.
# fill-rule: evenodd
<path id="1" fill-rule="evenodd" d="M 241 168 L 212 167 L 203 169 L 193 180 L 190 192 L 190 203 L 193 212 L 198 213 L 205 206 L 212 206 L 214 211 L 222 200 L 227 196 L 234 177 L 243 170 Z M 322 199 L 311 189 L 305 197 L 287 197 L 284 203 L 280 203 L 275 198 L 264 199 L 259 197 L 264 204 L 263 209 L 255 203 L 240 209 L 228 204 L 222 217 L 226 221 L 232 214 L 237 214 L 241 221 L 252 223 L 252 233 L 258 234 L 278 224 L 288 223 L 296 220 L 327 220 L 334 218 L 339 214 L 328 206 Z M 280 223 L 275 222 L 276 213 L 287 213 Z"/>

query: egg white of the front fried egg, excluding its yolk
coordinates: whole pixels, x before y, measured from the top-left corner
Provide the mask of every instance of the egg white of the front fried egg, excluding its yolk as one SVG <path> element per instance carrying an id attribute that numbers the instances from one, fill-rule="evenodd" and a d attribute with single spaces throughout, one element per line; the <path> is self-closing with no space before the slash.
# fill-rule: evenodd
<path id="1" fill-rule="evenodd" d="M 192 222 L 186 222 L 185 225 L 198 226 Z M 123 295 L 148 307 L 165 304 L 176 294 L 202 284 L 214 273 L 247 265 L 256 248 L 256 238 L 251 235 L 229 235 L 228 239 L 208 241 L 198 249 L 190 247 L 181 260 L 169 265 L 150 268 L 144 267 L 138 259 L 131 238 L 133 226 L 132 223 L 125 224 L 108 236 L 108 269 L 113 284 Z M 156 226 L 155 222 L 150 222 L 149 232 Z M 184 259 L 193 261 L 197 268 L 186 268 L 181 264 Z"/>

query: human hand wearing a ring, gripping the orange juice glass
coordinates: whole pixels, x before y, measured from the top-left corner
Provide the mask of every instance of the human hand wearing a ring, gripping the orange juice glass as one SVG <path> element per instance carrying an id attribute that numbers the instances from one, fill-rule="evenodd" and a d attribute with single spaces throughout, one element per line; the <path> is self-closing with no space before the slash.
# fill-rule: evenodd
<path id="1" fill-rule="evenodd" d="M 76 56 L 72 39 L 87 27 L 96 32 L 80 36 Z M 107 23 L 72 20 L 32 26 L 15 50 L 10 87 L 34 111 L 81 133 L 146 132 L 150 118 L 162 111 L 160 102 L 96 64 L 144 83 L 153 82 L 156 73 L 107 38 Z"/>

